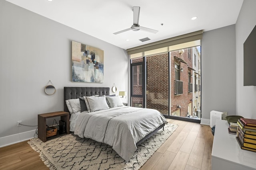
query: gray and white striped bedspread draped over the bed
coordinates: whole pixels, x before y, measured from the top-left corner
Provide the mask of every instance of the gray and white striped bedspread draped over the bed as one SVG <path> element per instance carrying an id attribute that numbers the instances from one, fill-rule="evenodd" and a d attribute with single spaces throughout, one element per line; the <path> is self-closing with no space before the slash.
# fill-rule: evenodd
<path id="1" fill-rule="evenodd" d="M 74 134 L 108 144 L 128 161 L 137 150 L 136 143 L 163 123 L 166 119 L 155 109 L 121 106 L 82 112 Z"/>

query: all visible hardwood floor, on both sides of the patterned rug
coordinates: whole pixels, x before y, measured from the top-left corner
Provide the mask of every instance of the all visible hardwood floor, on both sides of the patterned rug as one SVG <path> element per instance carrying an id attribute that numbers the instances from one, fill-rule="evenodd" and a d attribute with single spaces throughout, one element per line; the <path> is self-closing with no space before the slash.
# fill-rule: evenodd
<path id="1" fill-rule="evenodd" d="M 207 125 L 168 119 L 179 125 L 140 170 L 211 170 L 213 135 Z M 1 170 L 48 170 L 27 141 L 0 148 Z"/>

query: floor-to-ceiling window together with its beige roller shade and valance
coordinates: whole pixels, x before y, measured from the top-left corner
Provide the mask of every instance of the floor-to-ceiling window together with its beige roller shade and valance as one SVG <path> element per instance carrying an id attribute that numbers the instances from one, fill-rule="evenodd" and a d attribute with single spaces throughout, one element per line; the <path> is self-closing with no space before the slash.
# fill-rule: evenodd
<path id="1" fill-rule="evenodd" d="M 131 106 L 200 122 L 200 39 L 202 30 L 127 49 Z"/>

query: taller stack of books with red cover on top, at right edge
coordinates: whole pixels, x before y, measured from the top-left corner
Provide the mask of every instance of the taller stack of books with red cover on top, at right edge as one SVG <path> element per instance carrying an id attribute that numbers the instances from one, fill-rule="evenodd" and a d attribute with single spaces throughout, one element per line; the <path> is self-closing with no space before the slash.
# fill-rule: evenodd
<path id="1" fill-rule="evenodd" d="M 238 119 L 236 140 L 245 150 L 256 152 L 256 119 Z"/>

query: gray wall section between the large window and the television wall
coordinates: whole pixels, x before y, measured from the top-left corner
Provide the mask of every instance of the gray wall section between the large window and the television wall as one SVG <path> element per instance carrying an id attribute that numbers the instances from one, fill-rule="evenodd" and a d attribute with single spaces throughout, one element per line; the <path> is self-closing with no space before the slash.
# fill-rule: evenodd
<path id="1" fill-rule="evenodd" d="M 235 25 L 203 33 L 201 60 L 202 118 L 212 110 L 236 115 Z"/>

